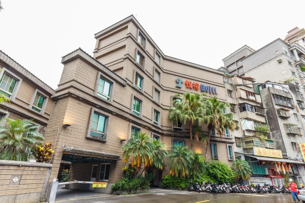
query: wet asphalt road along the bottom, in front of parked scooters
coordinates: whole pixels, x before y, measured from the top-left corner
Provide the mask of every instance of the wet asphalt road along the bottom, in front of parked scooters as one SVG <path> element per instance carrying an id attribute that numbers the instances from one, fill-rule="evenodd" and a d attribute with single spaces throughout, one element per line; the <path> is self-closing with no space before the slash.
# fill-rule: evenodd
<path id="1" fill-rule="evenodd" d="M 207 194 L 195 193 L 187 191 L 175 192 L 158 192 L 154 194 L 131 195 L 131 196 L 113 196 L 109 198 L 90 198 L 86 200 L 78 200 L 73 202 L 84 203 L 136 203 L 136 202 L 190 202 L 190 203 L 212 203 L 212 202 L 226 202 L 226 203 L 292 203 L 291 194 Z M 302 202 L 302 201 L 301 201 Z"/>

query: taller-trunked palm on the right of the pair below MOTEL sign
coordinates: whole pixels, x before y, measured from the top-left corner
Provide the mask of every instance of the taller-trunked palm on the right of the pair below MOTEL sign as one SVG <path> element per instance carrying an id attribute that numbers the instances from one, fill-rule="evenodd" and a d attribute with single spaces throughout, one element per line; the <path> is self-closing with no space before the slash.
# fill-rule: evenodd
<path id="1" fill-rule="evenodd" d="M 233 121 L 233 114 L 225 113 L 225 108 L 231 107 L 229 103 L 221 102 L 217 97 L 207 98 L 206 102 L 203 103 L 206 105 L 206 115 L 203 115 L 203 120 L 206 121 L 206 126 L 209 131 L 209 136 L 206 140 L 206 152 L 210 142 L 210 137 L 212 133 L 218 133 L 220 138 L 225 132 L 226 128 L 233 131 L 235 129 L 235 123 Z M 215 132 L 214 132 L 215 131 Z M 207 156 L 205 152 L 205 156 Z"/>

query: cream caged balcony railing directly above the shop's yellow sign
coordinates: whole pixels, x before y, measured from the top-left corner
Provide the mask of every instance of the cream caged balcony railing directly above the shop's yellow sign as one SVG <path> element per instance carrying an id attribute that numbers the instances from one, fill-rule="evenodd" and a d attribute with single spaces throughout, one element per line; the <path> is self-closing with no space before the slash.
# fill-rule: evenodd
<path id="1" fill-rule="evenodd" d="M 248 149 L 253 147 L 270 148 L 275 149 L 273 140 L 262 140 L 257 136 L 246 136 L 241 138 L 242 149 Z"/>

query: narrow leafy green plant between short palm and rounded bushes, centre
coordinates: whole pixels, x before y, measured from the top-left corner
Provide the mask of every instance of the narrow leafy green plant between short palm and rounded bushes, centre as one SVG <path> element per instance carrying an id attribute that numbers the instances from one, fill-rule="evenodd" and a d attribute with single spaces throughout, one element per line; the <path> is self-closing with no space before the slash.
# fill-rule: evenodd
<path id="1" fill-rule="evenodd" d="M 193 153 L 190 176 L 194 179 L 202 177 L 202 173 L 206 171 L 207 165 L 205 158 L 200 153 Z"/>

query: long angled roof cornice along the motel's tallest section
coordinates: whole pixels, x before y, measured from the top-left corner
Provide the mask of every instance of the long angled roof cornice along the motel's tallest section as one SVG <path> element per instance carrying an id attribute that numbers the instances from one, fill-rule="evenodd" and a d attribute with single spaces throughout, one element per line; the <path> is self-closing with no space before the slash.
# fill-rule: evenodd
<path id="1" fill-rule="evenodd" d="M 181 64 L 185 64 L 185 65 L 189 65 L 189 66 L 193 66 L 193 67 L 196 67 L 196 68 L 201 68 L 201 69 L 204 69 L 206 71 L 210 71 L 210 72 L 214 72 L 214 73 L 217 73 L 217 74 L 221 74 L 223 75 L 223 72 L 221 71 L 218 71 L 216 69 L 213 69 L 213 68 L 209 68 L 209 67 L 206 67 L 206 66 L 203 66 L 203 65 L 199 65 L 199 64 L 195 64 L 195 63 L 192 63 L 192 62 L 189 62 L 189 61 L 184 61 L 184 60 L 181 60 L 181 59 L 178 59 L 178 58 L 174 58 L 174 57 L 171 57 L 171 56 L 167 56 L 163 53 L 163 51 L 161 51 L 161 49 L 158 47 L 158 45 L 154 42 L 154 40 L 152 40 L 152 38 L 149 36 L 149 34 L 145 31 L 145 29 L 142 27 L 142 25 L 138 22 L 138 20 L 135 18 L 135 16 L 131 15 L 131 16 L 128 16 L 127 18 L 124 18 L 123 20 L 113 24 L 112 26 L 109 26 L 107 27 L 106 29 L 102 30 L 102 31 L 99 31 L 98 33 L 95 33 L 95 39 L 99 38 L 100 36 L 106 34 L 106 33 L 109 33 L 111 32 L 112 30 L 115 30 L 117 29 L 118 27 L 122 26 L 123 24 L 126 24 L 128 22 L 133 22 L 137 27 L 138 29 L 141 30 L 141 32 L 144 34 L 144 36 L 146 37 L 146 40 L 148 40 L 150 43 L 153 44 L 153 46 L 156 48 L 156 50 L 162 55 L 162 57 L 164 59 L 167 59 L 167 60 L 170 60 L 170 61 L 174 61 L 174 62 L 178 62 L 178 63 L 181 63 Z"/>

